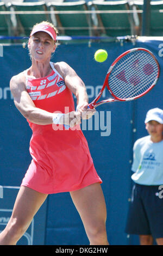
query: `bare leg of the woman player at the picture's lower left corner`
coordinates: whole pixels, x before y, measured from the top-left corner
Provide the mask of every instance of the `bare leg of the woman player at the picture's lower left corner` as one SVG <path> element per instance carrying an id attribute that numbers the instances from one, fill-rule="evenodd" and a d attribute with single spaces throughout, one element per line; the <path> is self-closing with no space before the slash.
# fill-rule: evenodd
<path id="1" fill-rule="evenodd" d="M 16 245 L 26 232 L 47 194 L 22 186 L 17 194 L 11 218 L 0 234 L 0 245 Z"/>

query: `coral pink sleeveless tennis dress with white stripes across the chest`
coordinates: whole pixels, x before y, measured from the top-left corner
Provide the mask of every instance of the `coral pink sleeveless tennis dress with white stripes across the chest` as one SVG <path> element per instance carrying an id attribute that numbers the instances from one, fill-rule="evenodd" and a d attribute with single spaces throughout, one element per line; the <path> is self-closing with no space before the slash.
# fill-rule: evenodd
<path id="1" fill-rule="evenodd" d="M 71 91 L 53 63 L 50 64 L 50 75 L 35 79 L 27 76 L 26 86 L 31 99 L 36 107 L 51 113 L 74 111 Z M 27 121 L 33 131 L 29 148 L 32 162 L 21 186 L 51 194 L 102 182 L 79 126 L 65 130 L 62 125 L 37 125 Z"/>

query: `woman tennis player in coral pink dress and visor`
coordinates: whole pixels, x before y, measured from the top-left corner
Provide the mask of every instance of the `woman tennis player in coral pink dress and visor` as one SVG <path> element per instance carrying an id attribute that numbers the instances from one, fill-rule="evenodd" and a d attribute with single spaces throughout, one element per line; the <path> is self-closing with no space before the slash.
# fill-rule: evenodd
<path id="1" fill-rule="evenodd" d="M 56 36 L 51 23 L 36 24 L 28 42 L 32 65 L 10 81 L 15 106 L 33 131 L 32 162 L 0 234 L 1 245 L 16 245 L 48 194 L 59 192 L 70 192 L 90 245 L 108 245 L 102 180 L 79 129 L 81 115 L 90 118 L 95 110 L 86 111 L 85 85 L 76 72 L 65 62 L 50 62 Z M 77 97 L 77 112 L 72 93 Z M 66 130 L 62 124 L 72 128 Z"/>

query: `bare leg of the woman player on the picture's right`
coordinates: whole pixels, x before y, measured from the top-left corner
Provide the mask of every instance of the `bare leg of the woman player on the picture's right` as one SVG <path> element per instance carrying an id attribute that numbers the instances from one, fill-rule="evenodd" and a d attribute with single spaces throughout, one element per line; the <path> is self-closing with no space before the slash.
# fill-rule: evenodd
<path id="1" fill-rule="evenodd" d="M 108 245 L 106 235 L 106 206 L 99 183 L 70 192 L 82 218 L 90 245 Z"/>

